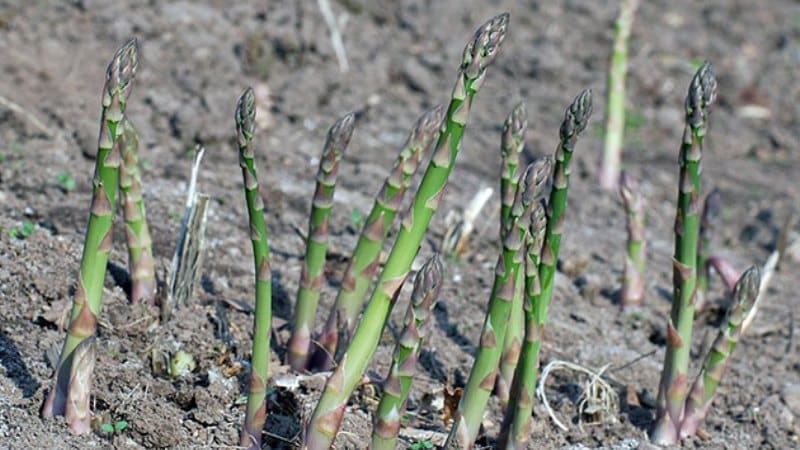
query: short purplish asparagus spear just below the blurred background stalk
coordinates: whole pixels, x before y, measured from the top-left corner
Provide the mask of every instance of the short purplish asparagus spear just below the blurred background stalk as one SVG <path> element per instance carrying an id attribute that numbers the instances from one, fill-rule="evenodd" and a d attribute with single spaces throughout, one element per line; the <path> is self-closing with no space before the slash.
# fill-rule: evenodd
<path id="1" fill-rule="evenodd" d="M 626 172 L 620 175 L 619 192 L 625 205 L 628 227 L 620 297 L 622 309 L 627 310 L 641 307 L 644 299 L 644 269 L 647 261 L 645 204 L 639 184 Z"/>

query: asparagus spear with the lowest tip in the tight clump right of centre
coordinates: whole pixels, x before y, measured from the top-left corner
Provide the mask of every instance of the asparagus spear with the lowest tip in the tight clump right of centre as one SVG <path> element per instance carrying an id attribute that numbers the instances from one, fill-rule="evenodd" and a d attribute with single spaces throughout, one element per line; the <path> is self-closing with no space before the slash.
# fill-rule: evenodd
<path id="1" fill-rule="evenodd" d="M 541 293 L 539 259 L 546 227 L 545 206 L 543 203 L 538 203 L 531 214 L 530 234 L 525 252 L 525 341 L 514 371 L 508 409 L 503 418 L 498 446 L 501 449 L 525 449 L 531 435 L 531 414 L 536 376 L 539 371 L 539 348 L 544 334 L 544 328 L 540 327 L 536 320 L 536 308 L 533 302 Z"/>

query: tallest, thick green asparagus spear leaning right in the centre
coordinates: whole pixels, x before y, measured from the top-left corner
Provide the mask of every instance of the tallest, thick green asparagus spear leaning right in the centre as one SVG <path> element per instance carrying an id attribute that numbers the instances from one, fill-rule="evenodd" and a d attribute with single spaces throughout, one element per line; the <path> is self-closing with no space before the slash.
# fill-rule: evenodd
<path id="1" fill-rule="evenodd" d="M 342 421 L 347 399 L 378 346 L 392 296 L 402 285 L 417 254 L 428 224 L 444 194 L 455 163 L 473 97 L 483 84 L 486 69 L 494 61 L 508 29 L 508 14 L 501 14 L 477 30 L 464 49 L 461 67 L 447 109 L 444 128 L 431 162 L 406 213 L 389 258 L 353 333 L 347 351 L 328 378 L 319 403 L 305 429 L 304 449 L 327 449 Z"/>

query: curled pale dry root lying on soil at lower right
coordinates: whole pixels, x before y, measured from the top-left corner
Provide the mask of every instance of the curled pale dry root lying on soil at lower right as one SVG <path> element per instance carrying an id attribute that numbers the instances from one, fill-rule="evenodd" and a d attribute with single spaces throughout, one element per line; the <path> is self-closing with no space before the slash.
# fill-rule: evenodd
<path id="1" fill-rule="evenodd" d="M 578 401 L 578 426 L 583 429 L 583 415 L 599 415 L 600 422 L 610 417 L 612 421 L 616 420 L 616 411 L 619 407 L 619 396 L 617 392 L 608 384 L 603 378 L 603 373 L 610 367 L 610 364 L 603 366 L 598 372 L 593 371 L 587 367 L 579 364 L 571 363 L 568 361 L 555 360 L 551 361 L 542 370 L 542 376 L 539 380 L 539 385 L 536 387 L 536 395 L 542 400 L 544 408 L 553 423 L 562 431 L 568 431 L 569 428 L 561 422 L 556 416 L 553 408 L 550 407 L 550 402 L 547 400 L 545 393 L 545 384 L 550 372 L 555 370 L 572 370 L 581 372 L 589 376 L 589 380 L 584 385 L 583 392 Z M 593 422 L 595 423 L 595 422 Z"/>

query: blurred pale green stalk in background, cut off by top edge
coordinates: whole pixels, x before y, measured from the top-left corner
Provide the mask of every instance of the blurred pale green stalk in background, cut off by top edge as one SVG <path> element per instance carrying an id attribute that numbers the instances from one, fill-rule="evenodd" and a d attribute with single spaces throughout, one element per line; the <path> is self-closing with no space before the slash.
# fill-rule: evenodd
<path id="1" fill-rule="evenodd" d="M 606 83 L 606 123 L 603 142 L 603 166 L 600 185 L 607 191 L 617 188 L 622 143 L 625 134 L 625 76 L 628 71 L 628 39 L 639 0 L 620 0 L 619 16 L 614 24 L 614 43 Z"/>

